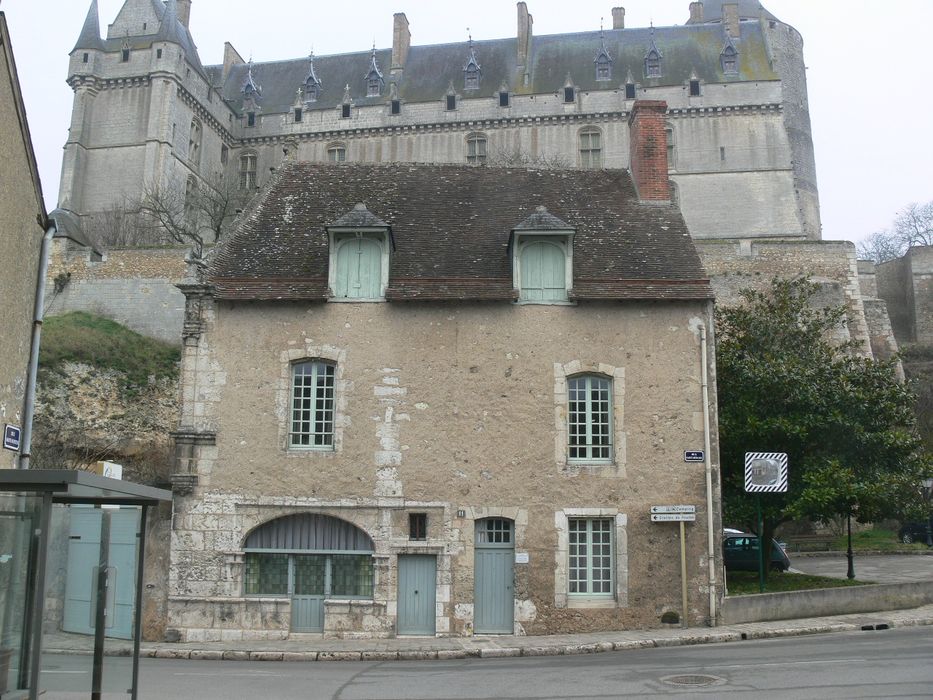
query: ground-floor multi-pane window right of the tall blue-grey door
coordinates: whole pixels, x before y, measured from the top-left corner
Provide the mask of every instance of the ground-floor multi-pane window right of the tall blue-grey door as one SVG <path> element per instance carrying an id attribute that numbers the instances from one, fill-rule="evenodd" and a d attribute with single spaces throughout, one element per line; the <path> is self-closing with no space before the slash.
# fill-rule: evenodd
<path id="1" fill-rule="evenodd" d="M 613 595 L 612 518 L 570 518 L 568 589 L 571 596 Z"/>

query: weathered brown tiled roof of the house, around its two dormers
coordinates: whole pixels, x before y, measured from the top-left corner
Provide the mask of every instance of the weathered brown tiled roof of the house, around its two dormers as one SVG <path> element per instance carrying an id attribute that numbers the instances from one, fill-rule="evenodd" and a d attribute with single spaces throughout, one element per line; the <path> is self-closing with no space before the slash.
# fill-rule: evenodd
<path id="1" fill-rule="evenodd" d="M 315 163 L 279 169 L 215 249 L 215 296 L 326 299 L 327 227 L 359 203 L 392 229 L 389 300 L 514 299 L 511 232 L 539 206 L 576 230 L 571 299 L 713 296 L 680 210 L 625 170 Z"/>

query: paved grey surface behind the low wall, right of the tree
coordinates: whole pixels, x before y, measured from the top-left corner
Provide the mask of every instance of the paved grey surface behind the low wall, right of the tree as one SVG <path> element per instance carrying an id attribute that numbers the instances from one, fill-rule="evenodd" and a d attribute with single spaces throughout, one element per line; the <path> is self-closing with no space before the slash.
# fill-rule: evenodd
<path id="1" fill-rule="evenodd" d="M 795 556 L 788 552 L 792 570 L 817 576 L 845 578 L 847 562 L 845 554 L 829 556 Z M 853 562 L 855 578 L 872 583 L 910 583 L 911 581 L 933 581 L 933 556 L 922 554 L 860 555 Z M 933 689 L 930 691 L 933 697 Z"/>

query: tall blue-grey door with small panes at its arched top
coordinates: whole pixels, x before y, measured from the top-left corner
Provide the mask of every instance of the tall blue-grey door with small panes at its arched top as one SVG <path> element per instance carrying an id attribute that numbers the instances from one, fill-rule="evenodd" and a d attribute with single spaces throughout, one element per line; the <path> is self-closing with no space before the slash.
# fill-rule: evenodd
<path id="1" fill-rule="evenodd" d="M 476 521 L 473 566 L 473 630 L 512 634 L 515 626 L 515 523 L 508 518 Z"/>

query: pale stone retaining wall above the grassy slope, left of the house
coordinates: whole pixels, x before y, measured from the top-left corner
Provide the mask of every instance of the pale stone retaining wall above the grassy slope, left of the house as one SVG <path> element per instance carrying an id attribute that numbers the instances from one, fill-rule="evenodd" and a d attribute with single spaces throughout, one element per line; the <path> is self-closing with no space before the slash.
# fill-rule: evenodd
<path id="1" fill-rule="evenodd" d="M 46 278 L 47 313 L 87 311 L 169 343 L 181 340 L 188 249 L 118 248 L 103 256 L 57 238 Z M 100 258 L 100 259 L 98 259 Z"/>

